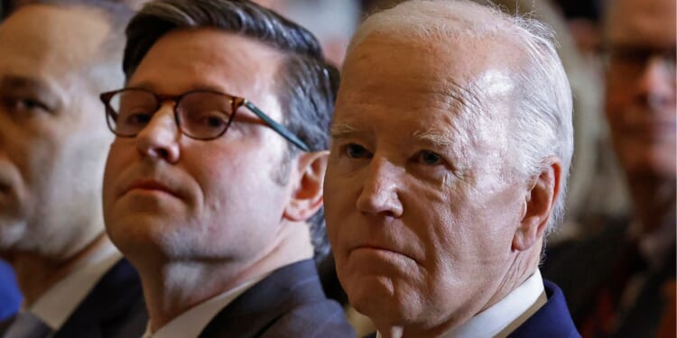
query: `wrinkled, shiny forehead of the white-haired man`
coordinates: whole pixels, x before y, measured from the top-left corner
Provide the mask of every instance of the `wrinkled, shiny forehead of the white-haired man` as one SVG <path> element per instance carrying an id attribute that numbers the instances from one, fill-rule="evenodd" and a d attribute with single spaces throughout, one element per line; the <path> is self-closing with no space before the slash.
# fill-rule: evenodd
<path id="1" fill-rule="evenodd" d="M 416 41 L 374 32 L 348 54 L 338 105 L 370 93 L 370 102 L 385 105 L 435 101 L 490 114 L 514 101 L 520 57 L 494 37 Z"/>

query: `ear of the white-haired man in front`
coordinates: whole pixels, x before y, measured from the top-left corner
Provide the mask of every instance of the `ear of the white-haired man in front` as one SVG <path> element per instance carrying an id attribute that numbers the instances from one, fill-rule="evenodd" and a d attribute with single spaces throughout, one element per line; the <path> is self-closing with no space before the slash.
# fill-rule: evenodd
<path id="1" fill-rule="evenodd" d="M 513 250 L 525 251 L 539 242 L 545 233 L 561 187 L 561 160 L 551 156 L 543 160 L 540 173 L 533 178 L 524 198 L 524 212 Z"/>

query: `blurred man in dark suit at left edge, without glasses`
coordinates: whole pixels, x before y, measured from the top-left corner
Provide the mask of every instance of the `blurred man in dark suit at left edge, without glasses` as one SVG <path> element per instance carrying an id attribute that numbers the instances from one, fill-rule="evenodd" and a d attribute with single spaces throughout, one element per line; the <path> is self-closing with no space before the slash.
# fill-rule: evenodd
<path id="1" fill-rule="evenodd" d="M 32 1 L 0 24 L 0 257 L 23 292 L 5 337 L 100 336 L 125 323 L 140 281 L 104 233 L 108 144 L 98 93 L 124 80 L 108 1 Z"/>

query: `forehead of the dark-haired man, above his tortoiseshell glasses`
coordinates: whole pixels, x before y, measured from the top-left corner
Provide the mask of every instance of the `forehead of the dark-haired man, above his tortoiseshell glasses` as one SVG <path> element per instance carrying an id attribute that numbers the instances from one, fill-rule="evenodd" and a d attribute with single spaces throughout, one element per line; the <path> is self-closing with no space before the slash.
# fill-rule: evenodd
<path id="1" fill-rule="evenodd" d="M 282 62 L 281 52 L 233 33 L 177 30 L 153 44 L 128 85 L 173 95 L 212 89 L 254 100 L 277 85 Z"/>

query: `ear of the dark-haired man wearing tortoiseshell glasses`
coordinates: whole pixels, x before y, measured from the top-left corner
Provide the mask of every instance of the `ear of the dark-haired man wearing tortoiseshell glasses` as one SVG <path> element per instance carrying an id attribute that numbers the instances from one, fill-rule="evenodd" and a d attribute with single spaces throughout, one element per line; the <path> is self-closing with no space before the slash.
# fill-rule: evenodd
<path id="1" fill-rule="evenodd" d="M 327 171 L 329 151 L 304 152 L 299 155 L 298 181 L 283 217 L 293 222 L 305 222 L 320 209 L 324 199 L 322 187 Z"/>

